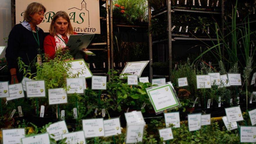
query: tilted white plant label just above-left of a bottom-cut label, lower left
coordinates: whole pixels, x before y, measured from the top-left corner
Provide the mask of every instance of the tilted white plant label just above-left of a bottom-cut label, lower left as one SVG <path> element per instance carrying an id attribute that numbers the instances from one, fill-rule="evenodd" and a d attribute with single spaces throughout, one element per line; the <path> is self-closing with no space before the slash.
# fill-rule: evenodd
<path id="1" fill-rule="evenodd" d="M 46 131 L 50 134 L 50 137 L 55 139 L 56 141 L 62 139 L 62 134 L 67 134 L 67 125 L 65 121 L 55 122 L 46 128 Z M 52 136 L 52 134 L 54 136 Z"/>

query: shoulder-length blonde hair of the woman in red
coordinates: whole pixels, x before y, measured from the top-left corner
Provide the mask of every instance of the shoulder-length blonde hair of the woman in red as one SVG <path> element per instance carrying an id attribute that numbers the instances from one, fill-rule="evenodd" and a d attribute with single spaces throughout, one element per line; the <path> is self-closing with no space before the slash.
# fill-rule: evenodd
<path id="1" fill-rule="evenodd" d="M 50 35 L 55 36 L 55 35 L 57 34 L 57 31 L 56 31 L 56 29 L 55 29 L 55 27 L 54 27 L 54 23 L 56 22 L 56 20 L 57 20 L 59 17 L 62 17 L 63 19 L 66 19 L 67 22 L 68 22 L 68 27 L 67 27 L 66 34 L 67 34 L 67 33 L 70 34 L 70 35 L 74 34 L 73 27 L 72 27 L 72 25 L 71 25 L 71 22 L 70 22 L 70 19 L 69 19 L 67 13 L 64 12 L 64 11 L 58 11 L 58 12 L 53 16 L 53 18 L 52 18 L 52 20 L 51 20 L 51 25 L 50 25 L 50 29 L 49 29 Z"/>

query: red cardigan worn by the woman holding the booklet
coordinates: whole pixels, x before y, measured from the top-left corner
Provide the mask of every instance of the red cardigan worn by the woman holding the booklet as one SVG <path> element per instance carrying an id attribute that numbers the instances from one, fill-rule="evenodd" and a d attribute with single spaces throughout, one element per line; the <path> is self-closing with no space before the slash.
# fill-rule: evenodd
<path id="1" fill-rule="evenodd" d="M 74 32 L 74 35 L 77 35 L 77 33 Z M 47 35 L 44 40 L 45 55 L 47 55 L 47 56 L 49 56 L 49 58 L 53 59 L 54 55 L 56 53 L 55 47 L 56 47 L 56 42 L 55 42 L 54 36 Z"/>

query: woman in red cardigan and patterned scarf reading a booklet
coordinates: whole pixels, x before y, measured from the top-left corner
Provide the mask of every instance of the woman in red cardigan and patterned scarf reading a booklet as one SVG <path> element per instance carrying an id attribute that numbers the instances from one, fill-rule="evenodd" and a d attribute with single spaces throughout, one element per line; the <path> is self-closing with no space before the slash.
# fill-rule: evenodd
<path id="1" fill-rule="evenodd" d="M 57 50 L 67 50 L 68 47 L 66 47 L 66 44 L 69 36 L 77 34 L 76 32 L 73 32 L 70 19 L 64 11 L 58 11 L 54 15 L 51 21 L 49 33 L 50 34 L 47 35 L 44 40 L 44 50 L 45 56 L 48 56 L 51 59 L 54 58 Z"/>

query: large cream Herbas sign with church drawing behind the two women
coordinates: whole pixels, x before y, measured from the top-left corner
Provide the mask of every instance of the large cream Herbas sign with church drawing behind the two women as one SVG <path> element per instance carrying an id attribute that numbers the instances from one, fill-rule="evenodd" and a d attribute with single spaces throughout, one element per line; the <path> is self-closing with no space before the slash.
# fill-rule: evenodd
<path id="1" fill-rule="evenodd" d="M 32 2 L 42 3 L 47 10 L 44 20 L 38 25 L 44 32 L 49 32 L 54 14 L 62 10 L 69 15 L 74 32 L 100 34 L 99 1 L 97 0 L 16 0 L 16 24 L 24 21 L 24 10 Z"/>

